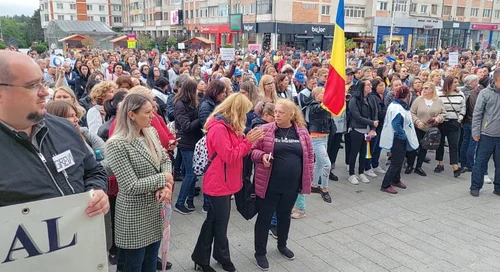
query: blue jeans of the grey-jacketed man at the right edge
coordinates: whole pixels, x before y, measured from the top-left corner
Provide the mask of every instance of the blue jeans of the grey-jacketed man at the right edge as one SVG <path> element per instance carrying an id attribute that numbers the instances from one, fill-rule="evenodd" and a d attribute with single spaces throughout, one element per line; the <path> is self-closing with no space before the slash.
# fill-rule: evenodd
<path id="1" fill-rule="evenodd" d="M 493 155 L 495 163 L 495 191 L 500 191 L 500 137 L 489 137 L 481 135 L 477 144 L 476 163 L 472 168 L 471 175 L 471 190 L 479 190 L 483 188 L 484 173 L 488 169 L 488 161 Z"/>

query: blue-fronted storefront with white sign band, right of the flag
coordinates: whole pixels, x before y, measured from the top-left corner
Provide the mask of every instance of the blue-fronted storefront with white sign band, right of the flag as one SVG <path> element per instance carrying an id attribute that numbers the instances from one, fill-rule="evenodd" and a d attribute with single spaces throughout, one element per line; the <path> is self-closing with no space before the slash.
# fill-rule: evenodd
<path id="1" fill-rule="evenodd" d="M 389 17 L 375 17 L 373 25 L 376 27 L 376 47 L 388 44 L 391 39 L 391 22 Z M 429 18 L 396 18 L 396 25 L 392 32 L 391 44 L 404 51 L 424 46 L 438 48 L 439 32 L 443 28 L 443 21 Z"/>

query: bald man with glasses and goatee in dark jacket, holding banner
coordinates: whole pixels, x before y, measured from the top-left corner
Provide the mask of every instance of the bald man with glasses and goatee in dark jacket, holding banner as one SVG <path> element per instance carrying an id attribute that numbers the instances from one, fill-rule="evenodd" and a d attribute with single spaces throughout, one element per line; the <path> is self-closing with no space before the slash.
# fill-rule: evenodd
<path id="1" fill-rule="evenodd" d="M 93 189 L 85 213 L 106 214 L 106 172 L 71 123 L 45 113 L 48 95 L 35 61 L 0 52 L 0 207 Z"/>

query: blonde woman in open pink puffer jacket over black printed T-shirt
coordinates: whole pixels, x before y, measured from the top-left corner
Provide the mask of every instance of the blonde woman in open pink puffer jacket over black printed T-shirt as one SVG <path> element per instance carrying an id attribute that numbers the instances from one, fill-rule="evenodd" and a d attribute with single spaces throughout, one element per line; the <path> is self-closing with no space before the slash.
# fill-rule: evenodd
<path id="1" fill-rule="evenodd" d="M 302 112 L 289 99 L 278 99 L 274 122 L 260 128 L 264 130 L 264 138 L 252 147 L 259 211 L 255 222 L 255 259 L 260 269 L 267 270 L 267 238 L 275 211 L 278 251 L 288 260 L 295 259 L 286 246 L 290 214 L 298 194 L 311 193 L 314 151 Z"/>

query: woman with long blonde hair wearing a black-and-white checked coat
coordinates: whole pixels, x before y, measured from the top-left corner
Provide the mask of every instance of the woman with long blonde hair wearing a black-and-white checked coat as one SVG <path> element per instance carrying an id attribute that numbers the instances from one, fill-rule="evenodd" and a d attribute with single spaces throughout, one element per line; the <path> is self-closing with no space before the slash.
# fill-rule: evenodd
<path id="1" fill-rule="evenodd" d="M 161 210 L 172 196 L 172 165 L 151 128 L 153 113 L 148 98 L 127 95 L 106 146 L 108 164 L 118 181 L 115 241 L 123 271 L 156 271 L 163 237 Z"/>

